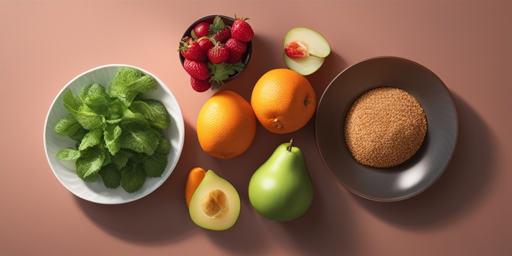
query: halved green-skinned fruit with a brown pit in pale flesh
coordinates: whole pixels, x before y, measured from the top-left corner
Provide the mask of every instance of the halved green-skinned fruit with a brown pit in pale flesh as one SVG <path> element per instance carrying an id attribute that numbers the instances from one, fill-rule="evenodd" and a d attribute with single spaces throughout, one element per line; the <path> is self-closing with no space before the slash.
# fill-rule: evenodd
<path id="1" fill-rule="evenodd" d="M 225 230 L 238 220 L 240 196 L 231 183 L 208 170 L 190 199 L 188 211 L 198 226 Z"/>

